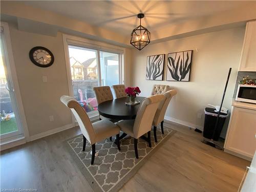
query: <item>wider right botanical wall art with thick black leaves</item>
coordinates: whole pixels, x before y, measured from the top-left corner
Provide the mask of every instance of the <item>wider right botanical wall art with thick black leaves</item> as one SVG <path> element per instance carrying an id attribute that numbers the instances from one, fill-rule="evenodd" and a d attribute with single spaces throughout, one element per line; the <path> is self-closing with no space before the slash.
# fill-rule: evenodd
<path id="1" fill-rule="evenodd" d="M 193 50 L 168 53 L 167 81 L 189 81 Z"/>

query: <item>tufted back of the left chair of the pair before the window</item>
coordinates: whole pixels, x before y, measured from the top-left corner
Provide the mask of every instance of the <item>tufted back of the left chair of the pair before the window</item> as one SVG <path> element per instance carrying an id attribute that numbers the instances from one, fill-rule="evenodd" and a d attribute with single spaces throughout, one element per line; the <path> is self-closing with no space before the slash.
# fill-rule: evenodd
<path id="1" fill-rule="evenodd" d="M 98 104 L 113 100 L 113 95 L 109 86 L 101 86 L 93 88 Z"/>

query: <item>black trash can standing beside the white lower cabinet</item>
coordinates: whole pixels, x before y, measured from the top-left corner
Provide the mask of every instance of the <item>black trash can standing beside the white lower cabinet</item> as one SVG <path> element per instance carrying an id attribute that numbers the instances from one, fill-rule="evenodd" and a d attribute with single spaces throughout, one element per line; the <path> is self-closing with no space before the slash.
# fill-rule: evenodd
<path id="1" fill-rule="evenodd" d="M 220 113 L 219 122 L 217 126 L 217 130 L 215 132 L 214 138 L 212 138 L 214 134 L 215 124 L 218 117 L 218 112 L 215 112 L 214 108 L 205 108 L 204 113 L 204 132 L 203 136 L 207 139 L 214 139 L 215 141 L 219 140 L 222 127 L 225 123 L 225 120 L 228 116 L 226 113 Z"/>

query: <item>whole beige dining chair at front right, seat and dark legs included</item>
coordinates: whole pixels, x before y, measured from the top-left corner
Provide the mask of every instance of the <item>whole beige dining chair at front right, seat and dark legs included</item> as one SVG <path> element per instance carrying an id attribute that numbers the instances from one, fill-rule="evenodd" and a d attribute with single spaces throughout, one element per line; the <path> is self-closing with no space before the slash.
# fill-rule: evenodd
<path id="1" fill-rule="evenodd" d="M 117 123 L 120 129 L 134 138 L 134 151 L 138 159 L 138 138 L 147 133 L 147 142 L 151 147 L 151 127 L 152 122 L 160 102 L 164 99 L 163 95 L 154 95 L 145 98 L 138 110 L 135 120 L 121 120 Z"/>

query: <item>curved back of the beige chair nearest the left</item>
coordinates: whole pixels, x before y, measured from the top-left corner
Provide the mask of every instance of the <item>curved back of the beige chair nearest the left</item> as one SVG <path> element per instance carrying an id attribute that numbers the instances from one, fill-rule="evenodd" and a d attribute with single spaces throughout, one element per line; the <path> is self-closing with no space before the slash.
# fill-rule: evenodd
<path id="1" fill-rule="evenodd" d="M 83 136 L 86 137 L 91 144 L 94 144 L 96 142 L 95 132 L 86 111 L 84 111 L 82 106 L 74 98 L 68 95 L 61 96 L 60 101 L 71 109 L 80 126 Z"/>

